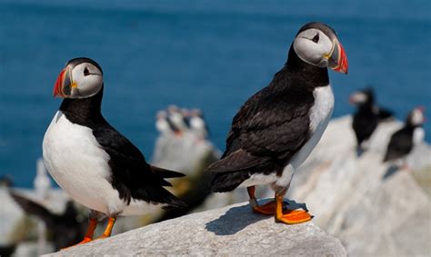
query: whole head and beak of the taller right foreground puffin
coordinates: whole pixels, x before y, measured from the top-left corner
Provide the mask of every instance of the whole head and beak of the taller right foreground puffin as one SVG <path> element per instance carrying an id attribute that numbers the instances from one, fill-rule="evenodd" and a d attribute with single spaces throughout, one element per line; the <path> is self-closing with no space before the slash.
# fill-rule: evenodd
<path id="1" fill-rule="evenodd" d="M 293 48 L 296 55 L 306 64 L 320 68 L 329 67 L 347 74 L 347 56 L 336 31 L 321 23 L 303 25 L 295 37 Z"/>

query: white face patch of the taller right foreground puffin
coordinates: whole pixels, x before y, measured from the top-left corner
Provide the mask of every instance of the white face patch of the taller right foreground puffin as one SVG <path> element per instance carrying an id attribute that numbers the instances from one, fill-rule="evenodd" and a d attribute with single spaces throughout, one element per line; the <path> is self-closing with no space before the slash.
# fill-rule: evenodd
<path id="1" fill-rule="evenodd" d="M 294 50 L 299 58 L 318 67 L 327 66 L 327 58 L 332 54 L 333 47 L 329 37 L 316 28 L 301 32 L 294 41 Z"/>

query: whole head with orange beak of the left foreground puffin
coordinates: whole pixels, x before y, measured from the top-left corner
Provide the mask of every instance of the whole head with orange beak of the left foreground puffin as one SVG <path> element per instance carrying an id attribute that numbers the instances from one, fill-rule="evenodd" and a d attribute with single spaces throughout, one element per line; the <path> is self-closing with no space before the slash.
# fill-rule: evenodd
<path id="1" fill-rule="evenodd" d="M 86 57 L 75 58 L 65 64 L 54 85 L 54 96 L 87 98 L 97 94 L 104 84 L 102 68 Z"/>

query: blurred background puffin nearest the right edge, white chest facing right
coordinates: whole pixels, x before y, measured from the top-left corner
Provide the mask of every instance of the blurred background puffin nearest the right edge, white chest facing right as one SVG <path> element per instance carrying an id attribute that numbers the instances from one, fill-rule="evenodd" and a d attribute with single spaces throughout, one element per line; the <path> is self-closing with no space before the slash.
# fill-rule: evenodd
<path id="1" fill-rule="evenodd" d="M 425 108 L 414 108 L 406 117 L 405 125 L 392 134 L 387 144 L 384 162 L 406 163 L 406 156 L 413 148 L 424 141 L 425 131 L 422 125 L 425 123 Z"/>

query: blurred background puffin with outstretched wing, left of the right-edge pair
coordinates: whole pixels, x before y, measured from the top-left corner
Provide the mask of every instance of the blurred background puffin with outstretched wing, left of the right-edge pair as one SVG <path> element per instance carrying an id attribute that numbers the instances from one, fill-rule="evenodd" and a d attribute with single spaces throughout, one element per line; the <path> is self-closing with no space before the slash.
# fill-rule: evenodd
<path id="1" fill-rule="evenodd" d="M 353 115 L 352 128 L 356 135 L 356 148 L 358 153 L 366 150 L 366 144 L 375 132 L 377 125 L 390 117 L 392 112 L 376 105 L 376 96 L 373 88 L 356 91 L 349 97 L 349 103 L 357 106 Z"/>

